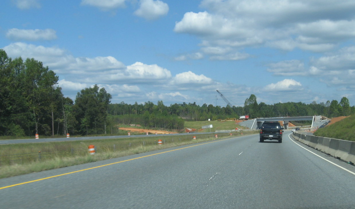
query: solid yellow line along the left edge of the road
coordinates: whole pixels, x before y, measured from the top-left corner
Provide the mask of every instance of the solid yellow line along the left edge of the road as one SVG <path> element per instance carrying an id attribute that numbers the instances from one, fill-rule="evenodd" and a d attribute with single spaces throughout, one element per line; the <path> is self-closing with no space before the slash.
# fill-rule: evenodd
<path id="1" fill-rule="evenodd" d="M 229 139 L 218 140 L 218 141 L 224 141 L 224 140 L 230 140 L 230 139 L 235 139 L 235 137 L 234 137 L 234 138 L 229 138 Z M 13 185 L 10 185 L 10 186 L 0 187 L 0 190 L 5 189 L 5 188 L 9 188 L 9 187 L 18 186 L 18 185 L 23 185 L 23 184 L 26 184 L 26 183 L 32 183 L 32 182 L 36 182 L 36 181 L 42 181 L 42 180 L 45 180 L 45 179 L 51 179 L 51 178 L 58 177 L 58 176 L 64 176 L 64 175 L 68 175 L 68 174 L 78 173 L 78 172 L 81 172 L 81 171 L 90 170 L 90 169 L 94 169 L 94 168 L 100 168 L 100 167 L 107 166 L 107 165 L 113 165 L 113 164 L 117 164 L 117 163 L 127 162 L 127 161 L 130 161 L 130 160 L 136 160 L 136 159 L 140 159 L 140 158 L 150 157 L 150 156 L 154 156 L 154 155 L 157 155 L 157 154 L 163 154 L 163 153 L 167 153 L 167 152 L 177 151 L 177 150 L 180 150 L 180 149 L 186 149 L 186 148 L 190 148 L 190 147 L 195 147 L 195 146 L 200 146 L 200 145 L 206 145 L 206 144 L 213 143 L 213 142 L 218 142 L 218 141 L 212 141 L 212 142 L 207 142 L 207 143 L 203 143 L 203 144 L 199 144 L 199 145 L 192 145 L 192 146 L 189 146 L 189 147 L 183 147 L 183 148 L 179 148 L 179 149 L 173 149 L 173 150 L 166 151 L 166 152 L 159 152 L 159 153 L 155 153 L 155 154 L 149 154 L 149 155 L 142 156 L 142 157 L 138 157 L 138 158 L 132 158 L 132 159 L 128 159 L 128 160 L 122 160 L 122 161 L 116 162 L 116 163 L 110 163 L 110 164 L 100 165 L 100 166 L 96 166 L 96 167 L 92 167 L 92 168 L 77 170 L 77 171 L 73 171 L 73 172 L 70 172 L 70 173 L 65 173 L 65 174 L 60 174 L 60 175 L 55 175 L 55 176 L 49 176 L 49 177 L 46 177 L 46 178 L 43 178 L 43 179 L 37 179 L 37 180 L 33 180 L 33 181 L 27 181 L 27 182 L 23 182 L 23 183 L 17 183 L 17 184 L 13 184 Z"/>

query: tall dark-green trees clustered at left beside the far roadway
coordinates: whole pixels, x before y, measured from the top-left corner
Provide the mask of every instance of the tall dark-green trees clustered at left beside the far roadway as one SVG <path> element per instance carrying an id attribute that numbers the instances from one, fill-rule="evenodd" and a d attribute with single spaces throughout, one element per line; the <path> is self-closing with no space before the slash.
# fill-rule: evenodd
<path id="1" fill-rule="evenodd" d="M 0 49 L 0 135 L 102 134 L 111 95 L 97 85 L 64 97 L 58 76 L 33 58 Z"/>

